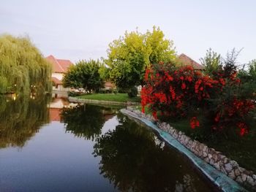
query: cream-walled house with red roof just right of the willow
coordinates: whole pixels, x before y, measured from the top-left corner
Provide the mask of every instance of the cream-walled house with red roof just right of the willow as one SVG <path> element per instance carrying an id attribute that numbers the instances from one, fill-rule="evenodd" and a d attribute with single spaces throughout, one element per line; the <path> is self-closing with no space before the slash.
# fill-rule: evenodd
<path id="1" fill-rule="evenodd" d="M 53 66 L 53 73 L 51 75 L 53 81 L 53 91 L 69 91 L 69 88 L 64 88 L 62 85 L 62 79 L 67 72 L 72 62 L 66 59 L 58 59 L 53 55 L 49 55 L 46 58 Z"/>

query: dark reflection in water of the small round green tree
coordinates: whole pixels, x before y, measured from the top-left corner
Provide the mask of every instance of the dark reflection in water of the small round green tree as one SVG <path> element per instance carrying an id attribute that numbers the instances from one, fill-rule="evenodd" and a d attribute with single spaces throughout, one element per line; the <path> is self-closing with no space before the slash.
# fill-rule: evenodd
<path id="1" fill-rule="evenodd" d="M 116 110 L 108 107 L 99 107 L 90 104 L 78 105 L 73 108 L 64 108 L 61 118 L 67 132 L 76 137 L 94 140 L 101 134 L 102 126 L 108 118 L 112 118 Z"/>

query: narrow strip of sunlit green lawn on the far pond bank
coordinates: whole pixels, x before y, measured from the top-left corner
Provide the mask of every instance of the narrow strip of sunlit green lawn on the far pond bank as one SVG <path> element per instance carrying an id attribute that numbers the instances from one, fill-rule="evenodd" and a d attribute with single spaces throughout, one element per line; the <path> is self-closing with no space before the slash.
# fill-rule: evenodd
<path id="1" fill-rule="evenodd" d="M 118 101 L 118 102 L 140 102 L 140 97 L 129 98 L 127 93 L 94 93 L 78 96 L 81 99 L 92 99 L 101 101 Z"/>

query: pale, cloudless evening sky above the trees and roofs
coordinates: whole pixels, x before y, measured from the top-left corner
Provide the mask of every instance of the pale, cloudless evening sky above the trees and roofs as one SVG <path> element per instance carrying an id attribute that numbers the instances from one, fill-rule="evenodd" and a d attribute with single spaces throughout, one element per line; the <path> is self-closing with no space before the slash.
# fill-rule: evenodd
<path id="1" fill-rule="evenodd" d="M 1 0 L 0 34 L 29 36 L 44 56 L 106 58 L 125 31 L 159 27 L 178 54 L 199 62 L 212 48 L 241 50 L 238 64 L 256 58 L 255 0 Z"/>

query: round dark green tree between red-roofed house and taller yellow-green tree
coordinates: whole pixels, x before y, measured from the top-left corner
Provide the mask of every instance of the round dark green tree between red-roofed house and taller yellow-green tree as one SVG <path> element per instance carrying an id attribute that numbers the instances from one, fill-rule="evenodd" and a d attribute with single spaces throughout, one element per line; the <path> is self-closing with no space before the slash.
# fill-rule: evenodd
<path id="1" fill-rule="evenodd" d="M 99 74 L 100 66 L 99 60 L 78 61 L 64 75 L 64 87 L 84 88 L 86 92 L 98 91 L 103 86 L 103 80 Z"/>

